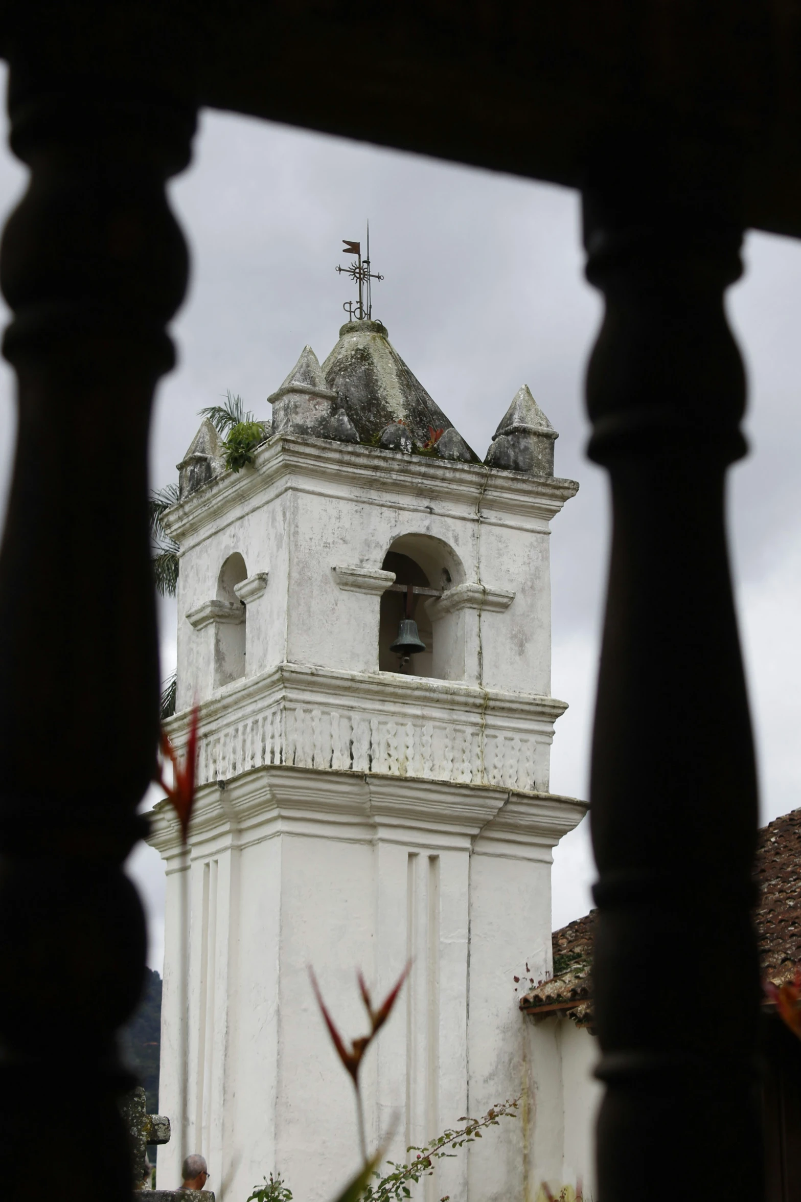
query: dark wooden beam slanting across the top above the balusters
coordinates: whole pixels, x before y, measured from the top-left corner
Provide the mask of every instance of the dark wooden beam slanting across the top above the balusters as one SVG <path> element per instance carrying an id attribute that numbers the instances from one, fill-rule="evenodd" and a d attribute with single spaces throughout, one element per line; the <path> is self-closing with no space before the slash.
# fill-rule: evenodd
<path id="1" fill-rule="evenodd" d="M 582 188 L 610 133 L 736 143 L 746 225 L 801 236 L 794 0 L 7 0 L 0 53 Z M 639 154 L 638 138 L 632 151 Z"/>

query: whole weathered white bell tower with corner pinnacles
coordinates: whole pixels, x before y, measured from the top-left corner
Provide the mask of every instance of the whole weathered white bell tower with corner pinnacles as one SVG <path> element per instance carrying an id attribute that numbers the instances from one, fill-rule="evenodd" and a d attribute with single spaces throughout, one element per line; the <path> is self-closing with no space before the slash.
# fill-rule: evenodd
<path id="1" fill-rule="evenodd" d="M 527 388 L 488 464 L 377 321 L 270 398 L 255 463 L 226 471 L 204 424 L 168 513 L 180 543 L 181 749 L 199 704 L 189 849 L 166 803 L 160 1108 L 163 1185 L 202 1153 L 219 1202 L 280 1171 L 328 1202 L 358 1167 L 343 1034 L 355 970 L 410 981 L 363 1071 L 369 1138 L 405 1159 L 460 1115 L 528 1089 L 513 977 L 550 970 L 551 849 L 585 805 L 549 793 L 549 523 L 578 486 Z M 438 434 L 440 430 L 444 433 Z M 390 650 L 411 614 L 425 650 Z M 420 1186 L 432 1202 L 520 1195 L 520 1123 Z"/>

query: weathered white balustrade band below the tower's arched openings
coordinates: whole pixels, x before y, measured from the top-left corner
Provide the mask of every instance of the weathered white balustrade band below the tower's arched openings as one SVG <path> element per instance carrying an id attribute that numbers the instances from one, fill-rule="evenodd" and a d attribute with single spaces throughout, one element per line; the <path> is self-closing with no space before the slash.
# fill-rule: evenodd
<path id="1" fill-rule="evenodd" d="M 198 780 L 293 764 L 545 792 L 563 710 L 551 697 L 281 664 L 203 706 Z M 183 746 L 185 718 L 169 732 Z"/>

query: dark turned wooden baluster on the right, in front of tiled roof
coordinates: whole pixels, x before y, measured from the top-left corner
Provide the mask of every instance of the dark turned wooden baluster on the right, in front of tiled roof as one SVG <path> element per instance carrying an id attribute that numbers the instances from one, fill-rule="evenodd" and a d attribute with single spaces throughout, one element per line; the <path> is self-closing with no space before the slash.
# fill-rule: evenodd
<path id="1" fill-rule="evenodd" d="M 585 194 L 606 299 L 590 454 L 614 506 L 591 786 L 599 1198 L 755 1202 L 757 791 L 724 529 L 745 451 L 723 308 L 741 230 L 715 155 L 663 149 Z"/>

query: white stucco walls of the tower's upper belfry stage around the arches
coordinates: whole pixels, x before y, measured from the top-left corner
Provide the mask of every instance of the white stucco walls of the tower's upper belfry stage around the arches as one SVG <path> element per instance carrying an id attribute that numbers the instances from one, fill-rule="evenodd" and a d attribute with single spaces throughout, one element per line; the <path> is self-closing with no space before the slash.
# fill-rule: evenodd
<path id="1" fill-rule="evenodd" d="M 414 540 L 441 541 L 452 583 L 489 593 L 485 600 L 465 596 L 461 618 L 431 609 L 435 626 L 443 625 L 442 647 L 454 637 L 458 644 L 449 662 L 438 665 L 443 676 L 478 682 L 482 672 L 489 689 L 548 696 L 549 522 L 575 487 L 372 447 L 274 438 L 257 453 L 255 470 L 227 474 L 167 516 L 181 545 L 178 709 L 214 694 L 214 620 L 198 614 L 217 597 L 231 554 L 243 555 L 250 576 L 269 576 L 247 607 L 247 676 L 285 661 L 375 672 L 381 590 L 346 591 L 331 569 L 381 570 L 390 547 L 414 554 Z M 430 573 L 435 559 L 424 565 Z M 513 597 L 508 608 L 492 605 L 495 593 Z"/>

